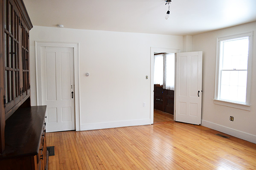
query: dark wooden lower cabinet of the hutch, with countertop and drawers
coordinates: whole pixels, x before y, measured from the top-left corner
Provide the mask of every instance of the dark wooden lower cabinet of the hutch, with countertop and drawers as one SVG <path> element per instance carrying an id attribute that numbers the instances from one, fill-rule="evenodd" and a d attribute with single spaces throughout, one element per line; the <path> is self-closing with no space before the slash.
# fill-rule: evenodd
<path id="1" fill-rule="evenodd" d="M 47 170 L 46 106 L 19 108 L 6 120 L 1 170 Z"/>

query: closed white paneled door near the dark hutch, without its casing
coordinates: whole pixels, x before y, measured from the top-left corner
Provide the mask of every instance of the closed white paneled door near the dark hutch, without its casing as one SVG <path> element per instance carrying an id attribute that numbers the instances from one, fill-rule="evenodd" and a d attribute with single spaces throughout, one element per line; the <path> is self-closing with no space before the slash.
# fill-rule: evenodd
<path id="1" fill-rule="evenodd" d="M 73 48 L 41 49 L 42 103 L 47 105 L 47 132 L 75 129 Z"/>

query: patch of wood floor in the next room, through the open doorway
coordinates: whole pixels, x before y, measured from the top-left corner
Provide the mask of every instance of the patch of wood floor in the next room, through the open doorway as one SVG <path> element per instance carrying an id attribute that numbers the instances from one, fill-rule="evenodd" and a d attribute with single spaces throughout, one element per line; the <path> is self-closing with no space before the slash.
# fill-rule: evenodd
<path id="1" fill-rule="evenodd" d="M 154 109 L 154 124 L 173 122 L 173 114 Z"/>

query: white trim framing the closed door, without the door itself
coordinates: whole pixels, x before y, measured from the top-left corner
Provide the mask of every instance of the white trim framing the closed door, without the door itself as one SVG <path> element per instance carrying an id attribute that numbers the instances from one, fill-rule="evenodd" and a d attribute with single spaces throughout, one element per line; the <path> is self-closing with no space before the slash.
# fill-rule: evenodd
<path id="1" fill-rule="evenodd" d="M 37 105 L 42 105 L 42 80 L 41 80 L 41 48 L 42 47 L 68 47 L 74 51 L 74 83 L 75 83 L 75 128 L 79 131 L 80 122 L 80 72 L 79 72 L 79 43 L 78 42 L 44 42 L 35 41 L 35 71 L 36 71 L 36 100 Z"/>

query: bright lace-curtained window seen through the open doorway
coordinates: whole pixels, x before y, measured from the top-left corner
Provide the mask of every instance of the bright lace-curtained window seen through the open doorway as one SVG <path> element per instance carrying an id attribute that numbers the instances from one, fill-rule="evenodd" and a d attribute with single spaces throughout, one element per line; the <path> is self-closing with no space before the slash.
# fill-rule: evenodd
<path id="1" fill-rule="evenodd" d="M 163 85 L 164 89 L 174 90 L 175 53 L 154 55 L 154 84 Z"/>

